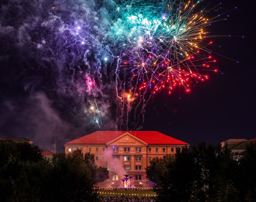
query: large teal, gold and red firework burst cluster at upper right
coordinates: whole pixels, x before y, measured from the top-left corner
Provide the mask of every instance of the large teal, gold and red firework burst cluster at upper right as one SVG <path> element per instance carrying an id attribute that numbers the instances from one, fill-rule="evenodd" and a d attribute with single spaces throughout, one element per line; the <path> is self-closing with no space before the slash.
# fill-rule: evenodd
<path id="1" fill-rule="evenodd" d="M 161 89 L 171 94 L 175 86 L 189 92 L 190 82 L 208 79 L 203 72 L 217 71 L 212 65 L 216 60 L 209 56 L 213 42 L 207 41 L 214 36 L 207 36 L 205 28 L 225 17 L 207 18 L 211 9 L 195 12 L 199 2 L 172 2 L 157 8 L 133 3 L 129 7 L 126 22 L 131 35 L 120 60 L 120 70 L 129 77 L 124 84 L 136 80 L 135 88 L 150 88 L 153 94 Z"/>

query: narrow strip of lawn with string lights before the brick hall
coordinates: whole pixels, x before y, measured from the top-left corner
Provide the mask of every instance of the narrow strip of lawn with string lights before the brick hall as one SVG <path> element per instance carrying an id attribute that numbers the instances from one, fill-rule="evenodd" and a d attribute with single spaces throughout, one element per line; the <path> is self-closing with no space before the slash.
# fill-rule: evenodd
<path id="1" fill-rule="evenodd" d="M 149 197 L 149 196 L 157 196 L 156 192 L 152 190 L 108 190 L 108 189 L 99 189 L 97 190 L 98 194 L 101 196 L 119 196 L 121 197 L 124 194 L 125 197 L 129 196 L 137 196 L 137 197 Z"/>

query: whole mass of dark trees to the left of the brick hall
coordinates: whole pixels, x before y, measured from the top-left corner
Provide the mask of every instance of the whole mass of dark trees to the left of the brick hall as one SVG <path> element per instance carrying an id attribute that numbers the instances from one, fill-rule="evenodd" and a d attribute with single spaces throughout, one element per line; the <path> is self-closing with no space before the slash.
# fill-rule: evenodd
<path id="1" fill-rule="evenodd" d="M 108 171 L 84 156 L 76 150 L 49 161 L 37 146 L 0 141 L 0 201 L 98 201 L 92 187 Z"/>

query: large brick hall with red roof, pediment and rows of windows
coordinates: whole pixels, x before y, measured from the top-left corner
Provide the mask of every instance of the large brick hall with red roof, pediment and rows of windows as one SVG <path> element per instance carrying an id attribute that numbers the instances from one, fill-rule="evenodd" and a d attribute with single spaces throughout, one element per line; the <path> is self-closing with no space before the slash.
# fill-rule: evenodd
<path id="1" fill-rule="evenodd" d="M 67 142 L 65 153 L 80 149 L 94 154 L 96 164 L 109 170 L 103 187 L 123 186 L 124 174 L 133 176 L 133 186 L 148 186 L 145 168 L 150 161 L 166 154 L 174 155 L 186 146 L 189 144 L 157 131 L 97 131 Z"/>

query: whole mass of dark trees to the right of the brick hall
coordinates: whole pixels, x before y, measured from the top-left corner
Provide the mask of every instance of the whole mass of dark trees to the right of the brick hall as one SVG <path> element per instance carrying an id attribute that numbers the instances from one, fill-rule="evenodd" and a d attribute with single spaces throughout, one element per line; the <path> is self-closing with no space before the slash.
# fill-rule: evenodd
<path id="1" fill-rule="evenodd" d="M 146 171 L 158 183 L 158 201 L 256 201 L 255 144 L 233 159 L 228 149 L 198 143 L 175 156 L 153 159 Z"/>

